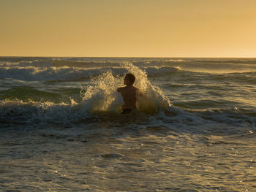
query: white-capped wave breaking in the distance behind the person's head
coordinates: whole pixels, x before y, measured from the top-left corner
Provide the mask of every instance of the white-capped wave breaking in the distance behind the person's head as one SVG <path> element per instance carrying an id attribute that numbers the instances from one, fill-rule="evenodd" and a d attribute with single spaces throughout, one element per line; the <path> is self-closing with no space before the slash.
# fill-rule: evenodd
<path id="1" fill-rule="evenodd" d="M 177 72 L 178 67 L 144 67 L 142 68 L 149 75 L 162 75 L 171 72 Z M 91 76 L 97 76 L 103 72 L 111 71 L 115 75 L 124 75 L 127 72 L 123 66 L 108 66 L 97 68 L 81 68 L 81 67 L 36 67 L 36 66 L 4 66 L 0 68 L 1 78 L 12 78 L 15 80 L 26 81 L 52 81 L 52 80 L 88 80 Z"/>

